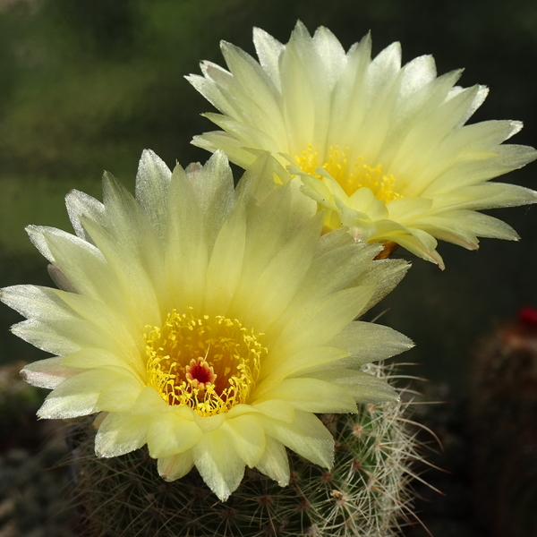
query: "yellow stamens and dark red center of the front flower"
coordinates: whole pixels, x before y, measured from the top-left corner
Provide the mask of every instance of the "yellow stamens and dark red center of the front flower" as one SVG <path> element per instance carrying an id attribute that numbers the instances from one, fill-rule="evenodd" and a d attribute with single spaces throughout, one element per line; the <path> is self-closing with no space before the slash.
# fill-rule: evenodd
<path id="1" fill-rule="evenodd" d="M 246 403 L 268 353 L 236 319 L 171 311 L 162 326 L 147 327 L 147 383 L 168 405 L 190 406 L 200 416 Z"/>

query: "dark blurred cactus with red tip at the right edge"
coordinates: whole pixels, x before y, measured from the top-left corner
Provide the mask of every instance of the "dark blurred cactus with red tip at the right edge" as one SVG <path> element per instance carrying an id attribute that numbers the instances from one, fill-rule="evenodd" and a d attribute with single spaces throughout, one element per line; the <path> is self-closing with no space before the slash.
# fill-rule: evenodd
<path id="1" fill-rule="evenodd" d="M 490 535 L 537 535 L 537 310 L 473 352 L 470 430 L 476 507 Z"/>

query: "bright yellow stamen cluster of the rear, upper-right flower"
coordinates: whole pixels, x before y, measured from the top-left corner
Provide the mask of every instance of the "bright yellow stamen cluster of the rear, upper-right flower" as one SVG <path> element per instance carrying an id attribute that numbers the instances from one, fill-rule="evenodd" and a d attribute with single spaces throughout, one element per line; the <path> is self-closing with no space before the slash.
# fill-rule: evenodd
<path id="1" fill-rule="evenodd" d="M 372 168 L 363 161 L 363 157 L 358 157 L 358 162 L 349 166 L 348 152 L 349 148 L 341 150 L 339 146 L 330 147 L 325 162 L 320 163 L 319 149 L 314 150 L 309 144 L 308 149 L 305 149 L 302 155 L 295 157 L 295 160 L 304 172 L 319 178 L 322 177 L 315 174 L 315 170 L 318 167 L 327 170 L 328 174 L 341 185 L 347 196 L 353 195 L 359 188 L 366 186 L 371 189 L 375 198 L 386 203 L 403 197 L 395 190 L 396 179 L 394 176 L 383 174 L 381 165 Z"/>

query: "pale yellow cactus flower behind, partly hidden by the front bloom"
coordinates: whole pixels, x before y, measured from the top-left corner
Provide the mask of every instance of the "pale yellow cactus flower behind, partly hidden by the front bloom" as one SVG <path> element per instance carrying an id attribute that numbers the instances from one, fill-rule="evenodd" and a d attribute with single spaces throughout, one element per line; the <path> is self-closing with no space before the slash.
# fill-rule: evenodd
<path id="1" fill-rule="evenodd" d="M 504 222 L 478 209 L 533 203 L 537 193 L 489 183 L 532 161 L 533 148 L 502 145 L 522 124 L 465 125 L 488 90 L 455 86 L 461 71 L 437 77 L 430 55 L 401 67 L 394 43 L 371 60 L 366 36 L 345 54 L 320 28 L 298 23 L 287 45 L 260 29 L 260 63 L 226 42 L 229 72 L 209 62 L 187 77 L 222 113 L 223 132 L 194 145 L 224 149 L 239 166 L 269 151 L 325 209 L 325 231 L 348 226 L 355 240 L 398 243 L 443 268 L 436 239 L 470 250 L 477 237 L 516 240 Z"/>

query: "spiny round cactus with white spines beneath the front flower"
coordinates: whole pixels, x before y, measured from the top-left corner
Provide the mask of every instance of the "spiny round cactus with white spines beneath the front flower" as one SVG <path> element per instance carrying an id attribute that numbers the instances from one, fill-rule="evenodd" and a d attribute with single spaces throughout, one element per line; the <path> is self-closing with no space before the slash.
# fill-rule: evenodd
<path id="1" fill-rule="evenodd" d="M 368 364 L 367 372 L 391 376 L 382 365 Z M 405 390 L 399 392 L 408 399 Z M 410 465 L 420 458 L 404 417 L 410 404 L 362 405 L 357 414 L 323 415 L 336 440 L 331 471 L 289 453 L 288 487 L 251 470 L 226 502 L 195 471 L 176 482 L 163 481 L 145 448 L 96 458 L 86 419 L 69 435 L 77 444 L 72 450 L 73 498 L 81 512 L 81 535 L 396 535 L 411 513 Z"/>

